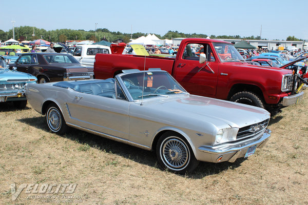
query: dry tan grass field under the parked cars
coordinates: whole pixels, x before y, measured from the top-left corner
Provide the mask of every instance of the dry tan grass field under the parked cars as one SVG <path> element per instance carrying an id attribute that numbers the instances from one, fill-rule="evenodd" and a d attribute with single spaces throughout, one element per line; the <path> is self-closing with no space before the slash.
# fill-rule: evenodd
<path id="1" fill-rule="evenodd" d="M 308 204 L 307 93 L 271 118 L 255 155 L 184 176 L 161 170 L 155 153 L 78 130 L 52 134 L 29 104 L 1 104 L 0 204 L 57 204 L 25 190 L 13 201 L 11 183 L 76 183 L 82 202 L 61 204 Z"/>

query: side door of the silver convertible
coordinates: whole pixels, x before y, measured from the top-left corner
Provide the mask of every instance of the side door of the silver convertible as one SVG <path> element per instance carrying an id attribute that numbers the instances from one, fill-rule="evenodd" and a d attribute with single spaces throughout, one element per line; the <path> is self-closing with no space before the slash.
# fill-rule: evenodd
<path id="1" fill-rule="evenodd" d="M 72 124 L 129 139 L 129 101 L 71 90 L 66 109 Z"/>

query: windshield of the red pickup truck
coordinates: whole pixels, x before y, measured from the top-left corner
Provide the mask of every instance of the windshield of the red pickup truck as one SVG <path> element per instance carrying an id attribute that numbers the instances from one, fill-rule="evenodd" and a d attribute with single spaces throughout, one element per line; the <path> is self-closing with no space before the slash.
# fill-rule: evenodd
<path id="1" fill-rule="evenodd" d="M 244 60 L 237 49 L 230 44 L 214 43 L 215 50 L 222 62 Z"/>

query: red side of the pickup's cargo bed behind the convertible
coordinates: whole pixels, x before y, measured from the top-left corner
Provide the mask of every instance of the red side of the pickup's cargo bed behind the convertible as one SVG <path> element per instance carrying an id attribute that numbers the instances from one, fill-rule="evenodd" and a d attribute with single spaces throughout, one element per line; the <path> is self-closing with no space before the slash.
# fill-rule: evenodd
<path id="1" fill-rule="evenodd" d="M 149 68 L 161 68 L 172 75 L 172 67 L 175 58 L 122 55 L 122 54 L 97 54 L 94 62 L 94 77 L 107 79 L 118 74 L 117 71 L 125 69 L 148 70 Z"/>

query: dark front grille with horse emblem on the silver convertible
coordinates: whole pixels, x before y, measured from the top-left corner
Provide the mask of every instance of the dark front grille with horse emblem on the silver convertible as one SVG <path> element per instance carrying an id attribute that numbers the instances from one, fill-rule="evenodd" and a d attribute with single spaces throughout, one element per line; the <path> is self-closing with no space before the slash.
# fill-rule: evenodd
<path id="1" fill-rule="evenodd" d="M 243 138 L 254 137 L 256 134 L 260 133 L 267 127 L 268 122 L 269 118 L 259 123 L 240 128 L 236 136 L 236 139 L 238 140 Z"/>

